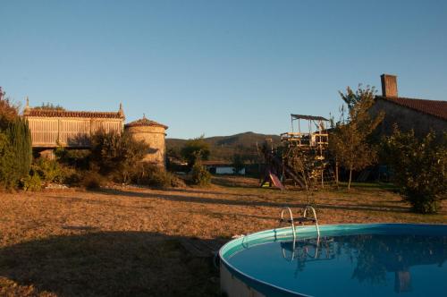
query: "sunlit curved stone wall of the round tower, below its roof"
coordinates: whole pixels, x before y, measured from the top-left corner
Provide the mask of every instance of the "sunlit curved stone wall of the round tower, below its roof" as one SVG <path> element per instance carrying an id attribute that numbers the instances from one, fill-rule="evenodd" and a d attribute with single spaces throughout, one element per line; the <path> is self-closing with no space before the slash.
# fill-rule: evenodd
<path id="1" fill-rule="evenodd" d="M 149 145 L 148 154 L 143 161 L 155 165 L 165 165 L 164 128 L 158 126 L 126 127 L 135 140 L 144 140 Z"/>

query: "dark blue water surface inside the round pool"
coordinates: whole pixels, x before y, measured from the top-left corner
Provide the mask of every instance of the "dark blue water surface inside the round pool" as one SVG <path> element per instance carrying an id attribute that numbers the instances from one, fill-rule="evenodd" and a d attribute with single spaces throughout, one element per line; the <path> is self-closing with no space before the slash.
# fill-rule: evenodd
<path id="1" fill-rule="evenodd" d="M 226 257 L 266 284 L 311 296 L 447 296 L 447 234 L 322 232 L 250 242 Z"/>

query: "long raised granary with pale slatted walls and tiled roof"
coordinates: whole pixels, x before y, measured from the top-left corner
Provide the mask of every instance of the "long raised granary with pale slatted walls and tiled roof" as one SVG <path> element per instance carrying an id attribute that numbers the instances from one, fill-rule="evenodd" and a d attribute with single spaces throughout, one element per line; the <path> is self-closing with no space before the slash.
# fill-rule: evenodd
<path id="1" fill-rule="evenodd" d="M 122 105 L 117 112 L 67 111 L 57 108 L 31 108 L 28 98 L 23 116 L 30 123 L 32 147 L 89 148 L 90 137 L 98 131 L 121 133 L 124 126 Z"/>

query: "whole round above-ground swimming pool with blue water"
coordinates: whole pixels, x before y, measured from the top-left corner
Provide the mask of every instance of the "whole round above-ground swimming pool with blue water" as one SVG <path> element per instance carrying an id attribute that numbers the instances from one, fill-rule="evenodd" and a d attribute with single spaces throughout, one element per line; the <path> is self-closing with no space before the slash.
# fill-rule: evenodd
<path id="1" fill-rule="evenodd" d="M 291 227 L 219 251 L 232 296 L 447 296 L 447 225 Z"/>

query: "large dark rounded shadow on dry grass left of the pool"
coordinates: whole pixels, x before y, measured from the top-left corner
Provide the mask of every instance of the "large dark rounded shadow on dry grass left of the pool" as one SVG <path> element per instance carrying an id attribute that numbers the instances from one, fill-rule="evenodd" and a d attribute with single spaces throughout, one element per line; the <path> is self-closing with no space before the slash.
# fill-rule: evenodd
<path id="1" fill-rule="evenodd" d="M 212 258 L 193 257 L 185 239 L 86 232 L 23 242 L 0 249 L 0 278 L 58 296 L 218 296 Z"/>

